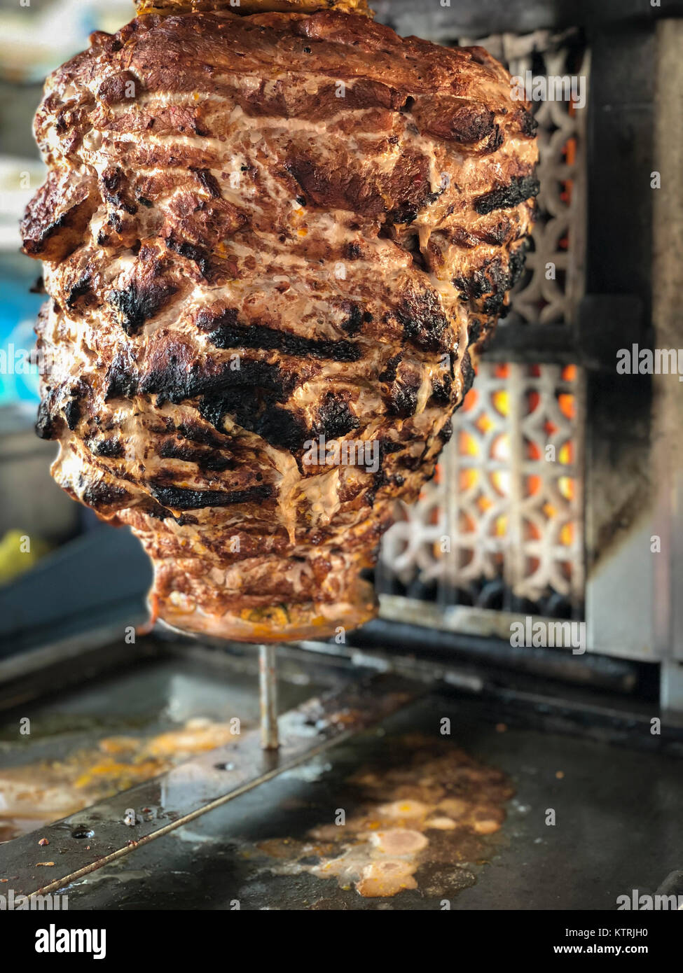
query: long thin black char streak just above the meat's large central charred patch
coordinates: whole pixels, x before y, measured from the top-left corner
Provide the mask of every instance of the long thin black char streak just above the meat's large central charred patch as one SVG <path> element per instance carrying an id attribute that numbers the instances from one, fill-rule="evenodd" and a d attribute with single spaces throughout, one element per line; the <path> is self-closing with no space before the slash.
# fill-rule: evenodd
<path id="1" fill-rule="evenodd" d="M 209 331 L 209 339 L 217 348 L 254 348 L 266 351 L 282 351 L 299 358 L 331 359 L 338 362 L 356 362 L 362 351 L 360 345 L 346 341 L 320 341 L 301 338 L 284 331 L 274 331 L 260 324 L 238 324 L 237 311 L 229 307 L 222 314 L 211 315 L 200 311 L 197 325 Z"/>

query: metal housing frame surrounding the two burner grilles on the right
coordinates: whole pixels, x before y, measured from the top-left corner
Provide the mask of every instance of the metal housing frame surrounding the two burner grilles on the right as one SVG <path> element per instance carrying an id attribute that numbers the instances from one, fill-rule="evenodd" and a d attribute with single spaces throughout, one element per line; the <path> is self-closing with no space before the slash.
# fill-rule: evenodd
<path id="1" fill-rule="evenodd" d="M 376 6 L 401 32 L 414 30 L 413 21 L 423 17 L 422 10 L 411 13 L 401 0 L 392 2 L 391 13 L 386 3 Z M 683 343 L 683 131 L 676 96 L 683 88 L 676 59 L 681 22 L 667 19 L 683 17 L 683 4 L 511 0 L 502 9 L 497 0 L 486 0 L 467 8 L 435 5 L 424 16 L 430 36 L 441 43 L 464 33 L 471 42 L 491 30 L 579 23 L 586 31 L 591 62 L 585 113 L 586 295 L 570 327 L 504 323 L 487 360 L 584 365 L 588 651 L 662 663 L 663 699 L 683 708 L 676 688 L 680 670 L 673 662 L 683 660 L 683 599 L 677 587 L 683 576 L 681 390 L 671 377 L 616 374 L 621 347 Z M 650 188 L 653 170 L 663 171 L 665 190 L 659 193 Z M 662 539 L 659 555 L 650 553 L 653 535 Z M 507 616 L 433 608 L 423 613 L 431 622 L 422 624 L 478 635 L 495 632 L 507 640 Z M 386 618 L 388 612 L 402 621 L 416 618 L 409 600 L 401 606 L 392 597 Z"/>

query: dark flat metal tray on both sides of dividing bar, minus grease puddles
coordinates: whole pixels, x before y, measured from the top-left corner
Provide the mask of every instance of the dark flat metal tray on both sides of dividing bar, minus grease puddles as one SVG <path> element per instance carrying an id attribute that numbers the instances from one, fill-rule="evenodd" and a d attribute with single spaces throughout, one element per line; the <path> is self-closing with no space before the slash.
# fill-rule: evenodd
<path id="1" fill-rule="evenodd" d="M 350 675 L 371 678 L 335 660 L 302 656 L 287 657 L 281 666 L 282 709 L 338 691 Z M 97 733 L 152 733 L 193 716 L 221 719 L 227 712 L 239 711 L 247 732 L 252 727 L 257 733 L 254 667 L 249 656 L 215 655 L 209 661 L 160 656 L 121 668 L 65 690 L 57 700 L 32 704 L 35 736 L 27 744 L 16 743 L 15 714 L 8 713 L 0 759 L 25 762 L 63 753 Z M 443 719 L 450 720 L 449 736 L 440 732 Z M 644 727 L 632 728 L 634 738 Z M 213 910 L 235 903 L 254 910 L 434 910 L 447 900 L 452 909 L 612 911 L 618 895 L 657 891 L 683 860 L 680 762 L 663 752 L 614 745 L 627 743 L 623 730 L 601 730 L 593 721 L 590 736 L 582 737 L 566 713 L 433 686 L 376 727 L 332 742 L 63 891 L 70 910 Z M 446 760 L 449 748 L 453 754 L 464 750 L 510 778 L 514 796 L 505 805 L 502 828 L 464 850 L 449 846 L 447 835 L 430 833 L 434 840 L 421 853 L 417 888 L 391 897 L 363 898 L 353 883 L 314 874 L 321 856 L 302 849 L 316 845 L 311 834 L 329 825 L 335 811 L 353 815 L 362 808 L 359 775 L 379 781 L 381 791 L 384 777 L 398 769 L 407 785 L 414 778 L 419 786 L 415 752 L 429 748 L 430 740 Z M 389 784 L 387 794 L 393 796 Z M 128 807 L 125 795 L 119 803 Z M 554 825 L 546 823 L 550 809 Z M 134 832 L 124 825 L 121 830 Z M 3 859 L 10 860 L 13 846 L 0 846 L 3 876 Z M 35 861 L 47 850 L 35 847 Z M 54 843 L 49 850 L 51 857 L 58 854 Z"/>

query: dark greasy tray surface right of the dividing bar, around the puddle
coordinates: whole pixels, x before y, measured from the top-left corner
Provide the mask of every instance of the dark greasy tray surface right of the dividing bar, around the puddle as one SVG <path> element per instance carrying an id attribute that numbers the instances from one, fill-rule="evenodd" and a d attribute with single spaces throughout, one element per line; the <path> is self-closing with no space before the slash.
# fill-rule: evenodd
<path id="1" fill-rule="evenodd" d="M 439 733 L 444 717 L 450 737 Z M 417 703 L 379 731 L 336 746 L 75 883 L 69 908 L 211 910 L 239 899 L 242 909 L 258 910 L 432 910 L 448 899 L 452 909 L 612 911 L 617 895 L 632 888 L 653 892 L 679 867 L 679 763 L 528 729 L 510 716 L 503 730 L 500 719 L 479 701 L 436 696 Z M 512 779 L 507 819 L 500 831 L 478 839 L 482 847 L 472 860 L 444 856 L 441 839 L 434 845 L 439 853 L 430 857 L 428 849 L 415 873 L 418 887 L 390 898 L 363 898 L 352 883 L 341 887 L 283 867 L 272 854 L 276 846 L 310 840 L 311 829 L 331 823 L 339 808 L 349 817 L 358 811 L 362 769 L 381 780 L 413 766 L 415 735 L 434 739 L 435 752 L 465 750 Z M 550 808 L 554 826 L 545 823 Z"/>

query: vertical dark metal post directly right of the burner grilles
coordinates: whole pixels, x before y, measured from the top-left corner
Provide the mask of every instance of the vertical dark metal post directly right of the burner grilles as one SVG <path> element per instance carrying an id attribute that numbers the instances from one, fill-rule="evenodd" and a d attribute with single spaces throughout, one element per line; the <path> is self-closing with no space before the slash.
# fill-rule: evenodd
<path id="1" fill-rule="evenodd" d="M 653 661 L 652 383 L 618 375 L 616 353 L 650 337 L 654 36 L 654 22 L 588 31 L 588 297 L 580 322 L 601 366 L 587 377 L 588 640 L 598 652 Z"/>

